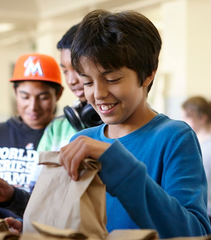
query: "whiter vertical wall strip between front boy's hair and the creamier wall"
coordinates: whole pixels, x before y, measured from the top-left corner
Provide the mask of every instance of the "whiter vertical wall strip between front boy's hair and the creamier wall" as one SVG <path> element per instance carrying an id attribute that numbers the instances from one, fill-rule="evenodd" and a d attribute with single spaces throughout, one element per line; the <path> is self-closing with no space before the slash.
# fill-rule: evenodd
<path id="1" fill-rule="evenodd" d="M 180 114 L 187 88 L 186 1 L 167 1 L 162 5 L 161 72 L 164 77 L 164 112 L 172 118 Z"/>

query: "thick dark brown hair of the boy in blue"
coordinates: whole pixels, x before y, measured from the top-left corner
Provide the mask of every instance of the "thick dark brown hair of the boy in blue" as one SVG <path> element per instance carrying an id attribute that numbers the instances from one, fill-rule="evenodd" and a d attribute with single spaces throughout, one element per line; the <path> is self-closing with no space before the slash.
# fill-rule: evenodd
<path id="1" fill-rule="evenodd" d="M 105 69 L 126 66 L 137 72 L 142 86 L 158 67 L 161 45 L 158 30 L 142 14 L 94 10 L 84 17 L 72 43 L 72 65 L 80 72 L 85 56 Z"/>

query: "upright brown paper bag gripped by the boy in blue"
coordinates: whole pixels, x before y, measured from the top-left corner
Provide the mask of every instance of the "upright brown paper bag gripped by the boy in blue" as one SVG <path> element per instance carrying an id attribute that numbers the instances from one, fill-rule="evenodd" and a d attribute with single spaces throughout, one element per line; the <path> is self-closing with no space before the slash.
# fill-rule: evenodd
<path id="1" fill-rule="evenodd" d="M 44 164 L 23 217 L 23 232 L 36 232 L 33 221 L 59 229 L 85 232 L 105 239 L 105 185 L 97 172 L 100 163 L 85 159 L 78 181 L 71 180 L 59 164 L 59 152 L 41 152 Z"/>

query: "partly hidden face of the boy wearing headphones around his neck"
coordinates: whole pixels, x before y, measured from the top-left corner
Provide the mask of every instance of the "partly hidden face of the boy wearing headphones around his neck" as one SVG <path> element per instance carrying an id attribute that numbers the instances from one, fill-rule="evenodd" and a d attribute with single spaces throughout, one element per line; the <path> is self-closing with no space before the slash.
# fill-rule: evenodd
<path id="1" fill-rule="evenodd" d="M 65 80 L 68 87 L 75 94 L 76 97 L 80 99 L 81 102 L 86 102 L 84 96 L 84 84 L 80 76 L 74 70 L 71 65 L 70 50 L 62 49 L 61 50 L 61 68 L 65 75 Z"/>

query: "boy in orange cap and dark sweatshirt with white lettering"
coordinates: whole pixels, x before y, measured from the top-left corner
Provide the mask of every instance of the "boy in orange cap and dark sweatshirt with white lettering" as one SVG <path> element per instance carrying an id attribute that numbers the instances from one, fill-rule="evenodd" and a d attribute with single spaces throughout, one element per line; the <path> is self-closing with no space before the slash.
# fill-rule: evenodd
<path id="1" fill-rule="evenodd" d="M 7 212 L 4 215 L 5 209 L 12 202 L 17 205 L 14 213 L 22 212 L 18 209 L 18 192 L 14 187 L 29 191 L 38 143 L 55 116 L 56 102 L 63 91 L 58 64 L 44 54 L 21 56 L 10 81 L 18 114 L 0 123 L 0 218 L 8 216 Z"/>

